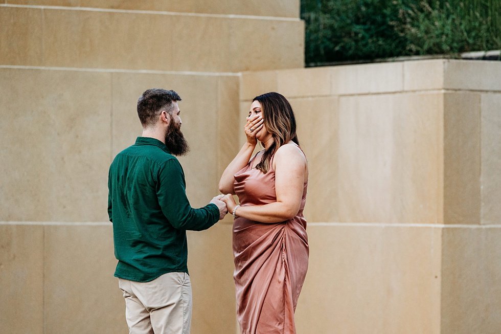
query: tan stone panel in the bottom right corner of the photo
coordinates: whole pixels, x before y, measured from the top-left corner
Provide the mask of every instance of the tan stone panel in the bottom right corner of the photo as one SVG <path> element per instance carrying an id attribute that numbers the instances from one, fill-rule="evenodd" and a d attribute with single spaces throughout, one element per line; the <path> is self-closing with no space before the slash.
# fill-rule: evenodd
<path id="1" fill-rule="evenodd" d="M 442 334 L 501 330 L 500 239 L 500 228 L 444 229 Z"/>

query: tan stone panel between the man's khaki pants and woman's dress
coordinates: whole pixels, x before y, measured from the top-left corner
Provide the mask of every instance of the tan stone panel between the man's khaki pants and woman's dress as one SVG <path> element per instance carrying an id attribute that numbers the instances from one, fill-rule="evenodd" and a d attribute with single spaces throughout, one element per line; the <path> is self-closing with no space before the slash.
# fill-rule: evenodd
<path id="1" fill-rule="evenodd" d="M 192 333 L 231 333 L 235 323 L 232 227 L 218 223 L 188 232 L 193 290 Z"/>

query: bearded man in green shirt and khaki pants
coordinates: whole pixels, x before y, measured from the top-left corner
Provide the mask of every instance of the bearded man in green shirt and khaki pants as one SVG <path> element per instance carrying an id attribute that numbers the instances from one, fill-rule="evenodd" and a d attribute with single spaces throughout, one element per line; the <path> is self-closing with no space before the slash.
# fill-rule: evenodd
<path id="1" fill-rule="evenodd" d="M 145 91 L 138 100 L 143 135 L 109 168 L 115 276 L 131 333 L 190 332 L 186 230 L 208 229 L 227 213 L 222 195 L 200 209 L 186 197 L 183 168 L 174 157 L 188 151 L 178 101 L 174 91 Z"/>

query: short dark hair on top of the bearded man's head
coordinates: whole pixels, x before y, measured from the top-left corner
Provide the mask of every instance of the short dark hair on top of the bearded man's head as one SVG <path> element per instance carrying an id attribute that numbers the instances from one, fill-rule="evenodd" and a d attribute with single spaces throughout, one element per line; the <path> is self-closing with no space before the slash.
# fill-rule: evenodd
<path id="1" fill-rule="evenodd" d="M 174 91 L 162 88 L 146 90 L 138 99 L 138 116 L 143 127 L 154 125 L 162 110 L 171 113 L 176 101 L 181 101 L 181 98 Z"/>

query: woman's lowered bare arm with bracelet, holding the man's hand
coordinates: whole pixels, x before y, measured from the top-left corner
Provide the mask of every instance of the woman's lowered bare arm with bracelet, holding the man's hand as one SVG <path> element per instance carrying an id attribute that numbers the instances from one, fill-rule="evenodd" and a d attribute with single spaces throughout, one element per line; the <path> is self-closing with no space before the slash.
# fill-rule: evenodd
<path id="1" fill-rule="evenodd" d="M 304 182 L 307 178 L 306 159 L 295 145 L 283 145 L 275 153 L 275 190 L 277 202 L 261 206 L 238 207 L 239 217 L 259 222 L 280 222 L 293 218 L 301 207 Z M 221 198 L 229 212 L 236 206 L 233 196 Z"/>

